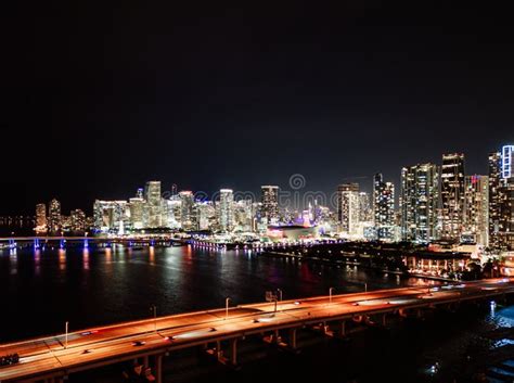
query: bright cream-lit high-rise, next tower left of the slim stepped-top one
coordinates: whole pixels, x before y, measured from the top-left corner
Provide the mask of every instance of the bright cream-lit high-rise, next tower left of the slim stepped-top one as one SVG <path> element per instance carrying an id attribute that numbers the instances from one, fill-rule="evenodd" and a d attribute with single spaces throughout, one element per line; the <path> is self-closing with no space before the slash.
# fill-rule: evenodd
<path id="1" fill-rule="evenodd" d="M 355 235 L 359 230 L 359 183 L 343 183 L 337 187 L 337 219 L 340 231 Z"/>

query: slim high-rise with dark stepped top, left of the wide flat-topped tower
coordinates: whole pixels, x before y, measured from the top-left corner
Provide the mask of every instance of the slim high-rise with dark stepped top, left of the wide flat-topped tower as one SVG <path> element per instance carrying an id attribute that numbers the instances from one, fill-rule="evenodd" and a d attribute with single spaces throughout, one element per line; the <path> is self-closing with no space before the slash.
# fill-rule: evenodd
<path id="1" fill-rule="evenodd" d="M 395 238 L 395 184 L 384 182 L 382 174 L 373 177 L 373 216 L 380 240 Z"/>

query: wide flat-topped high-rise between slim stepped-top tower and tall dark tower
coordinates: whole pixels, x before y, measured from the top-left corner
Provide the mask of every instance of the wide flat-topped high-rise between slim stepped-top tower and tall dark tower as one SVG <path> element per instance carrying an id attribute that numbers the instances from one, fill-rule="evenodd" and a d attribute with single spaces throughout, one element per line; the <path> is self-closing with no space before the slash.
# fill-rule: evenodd
<path id="1" fill-rule="evenodd" d="M 401 169 L 401 237 L 406 241 L 438 239 L 437 210 L 439 173 L 437 165 L 421 164 Z"/>

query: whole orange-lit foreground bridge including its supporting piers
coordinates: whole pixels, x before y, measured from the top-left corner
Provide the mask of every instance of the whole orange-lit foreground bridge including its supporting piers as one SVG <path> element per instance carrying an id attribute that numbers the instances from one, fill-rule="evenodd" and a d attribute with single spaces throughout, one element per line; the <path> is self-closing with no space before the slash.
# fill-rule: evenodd
<path id="1" fill-rule="evenodd" d="M 312 328 L 323 335 L 345 336 L 348 322 L 386 324 L 393 316 L 422 316 L 425 310 L 465 302 L 504 298 L 514 279 L 489 279 L 437 288 L 402 288 L 373 292 L 274 301 L 221 309 L 156 317 L 68 334 L 0 345 L 0 356 L 18 354 L 20 362 L 0 367 L 0 383 L 63 382 L 70 374 L 130 360 L 151 366 L 163 381 L 163 358 L 200 347 L 229 366 L 237 365 L 237 344 L 256 335 L 296 350 L 296 333 Z"/>

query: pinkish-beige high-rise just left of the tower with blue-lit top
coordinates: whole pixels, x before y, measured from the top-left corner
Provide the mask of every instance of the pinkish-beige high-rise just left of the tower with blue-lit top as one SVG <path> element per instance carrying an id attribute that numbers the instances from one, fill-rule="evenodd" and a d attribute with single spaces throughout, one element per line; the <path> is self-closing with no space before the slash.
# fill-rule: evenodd
<path id="1" fill-rule="evenodd" d="M 463 237 L 477 244 L 489 243 L 489 177 L 465 177 Z"/>

